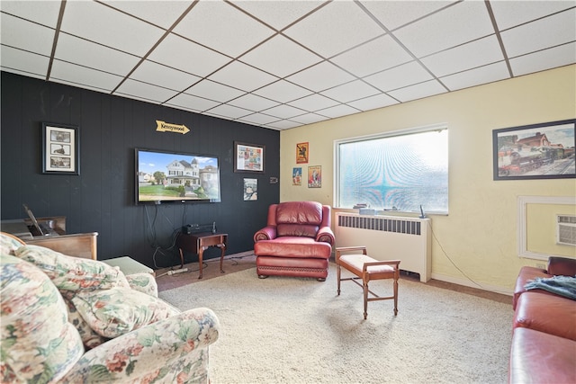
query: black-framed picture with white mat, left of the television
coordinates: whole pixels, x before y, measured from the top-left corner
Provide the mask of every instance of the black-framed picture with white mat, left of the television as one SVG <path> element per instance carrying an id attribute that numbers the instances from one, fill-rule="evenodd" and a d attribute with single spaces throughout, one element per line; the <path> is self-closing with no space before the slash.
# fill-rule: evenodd
<path id="1" fill-rule="evenodd" d="M 78 127 L 42 122 L 41 135 L 42 174 L 80 174 Z"/>

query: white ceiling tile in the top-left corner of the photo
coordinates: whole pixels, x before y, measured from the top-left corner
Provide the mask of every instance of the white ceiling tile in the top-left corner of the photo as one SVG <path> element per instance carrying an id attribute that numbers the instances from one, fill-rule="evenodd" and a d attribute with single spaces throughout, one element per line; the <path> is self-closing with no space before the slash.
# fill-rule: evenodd
<path id="1" fill-rule="evenodd" d="M 60 2 L 58 1 L 0 1 L 0 10 L 22 17 L 31 22 L 38 22 L 55 29 L 58 24 Z M 3 20 L 4 22 L 4 20 Z"/>

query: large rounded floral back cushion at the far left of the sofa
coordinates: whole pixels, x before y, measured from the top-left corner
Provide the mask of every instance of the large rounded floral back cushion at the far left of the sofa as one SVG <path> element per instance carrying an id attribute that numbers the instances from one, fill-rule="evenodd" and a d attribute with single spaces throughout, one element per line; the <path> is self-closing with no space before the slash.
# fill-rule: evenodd
<path id="1" fill-rule="evenodd" d="M 64 299 L 31 263 L 0 255 L 2 382 L 57 382 L 83 355 Z"/>

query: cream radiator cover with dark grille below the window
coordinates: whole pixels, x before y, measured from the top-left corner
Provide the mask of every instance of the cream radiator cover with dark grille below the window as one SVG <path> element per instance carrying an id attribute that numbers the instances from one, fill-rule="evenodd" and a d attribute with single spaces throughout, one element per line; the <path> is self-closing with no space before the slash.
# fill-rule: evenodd
<path id="1" fill-rule="evenodd" d="M 366 246 L 376 260 L 400 260 L 400 269 L 430 280 L 432 241 L 430 219 L 336 213 L 336 246 Z"/>

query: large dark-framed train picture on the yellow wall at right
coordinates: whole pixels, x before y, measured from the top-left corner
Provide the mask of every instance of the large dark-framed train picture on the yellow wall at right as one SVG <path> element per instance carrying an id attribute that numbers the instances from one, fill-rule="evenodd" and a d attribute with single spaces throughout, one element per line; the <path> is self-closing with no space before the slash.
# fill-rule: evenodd
<path id="1" fill-rule="evenodd" d="M 576 119 L 492 131 L 494 180 L 576 177 Z"/>

